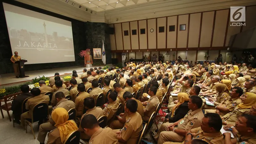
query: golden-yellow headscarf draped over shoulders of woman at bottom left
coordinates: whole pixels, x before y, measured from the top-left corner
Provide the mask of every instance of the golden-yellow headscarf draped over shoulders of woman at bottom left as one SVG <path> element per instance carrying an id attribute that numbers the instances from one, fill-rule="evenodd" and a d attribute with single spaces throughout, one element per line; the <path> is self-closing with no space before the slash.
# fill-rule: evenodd
<path id="1" fill-rule="evenodd" d="M 61 142 L 64 143 L 69 134 L 78 130 L 75 121 L 68 120 L 68 112 L 65 108 L 56 108 L 52 111 L 52 119 L 55 127 L 60 131 Z"/>

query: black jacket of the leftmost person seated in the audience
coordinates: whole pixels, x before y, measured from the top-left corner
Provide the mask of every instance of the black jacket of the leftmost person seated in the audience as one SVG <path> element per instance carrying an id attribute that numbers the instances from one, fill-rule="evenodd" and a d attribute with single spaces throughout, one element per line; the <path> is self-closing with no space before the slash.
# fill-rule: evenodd
<path id="1" fill-rule="evenodd" d="M 27 99 L 28 97 L 33 97 L 32 94 L 30 92 L 25 92 L 25 93 L 21 93 L 20 95 L 18 95 L 17 97 L 15 97 L 13 99 L 12 102 L 12 113 L 15 116 L 20 116 L 21 115 L 21 106 L 22 106 L 22 102 Z"/>

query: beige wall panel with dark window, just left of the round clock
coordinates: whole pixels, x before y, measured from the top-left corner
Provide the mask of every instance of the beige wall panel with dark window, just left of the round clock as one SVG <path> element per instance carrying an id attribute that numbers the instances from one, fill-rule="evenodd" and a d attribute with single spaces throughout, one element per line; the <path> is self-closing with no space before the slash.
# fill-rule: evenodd
<path id="1" fill-rule="evenodd" d="M 140 29 L 145 28 L 146 34 L 140 34 Z M 140 49 L 147 49 L 147 21 L 146 20 L 139 20 L 139 31 L 138 34 L 140 36 Z M 136 57 L 137 58 L 137 57 Z"/>

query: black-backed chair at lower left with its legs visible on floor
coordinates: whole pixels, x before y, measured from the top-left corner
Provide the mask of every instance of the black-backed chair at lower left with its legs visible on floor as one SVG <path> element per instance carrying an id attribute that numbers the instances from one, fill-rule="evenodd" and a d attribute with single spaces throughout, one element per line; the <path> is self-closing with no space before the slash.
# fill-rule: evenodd
<path id="1" fill-rule="evenodd" d="M 28 133 L 27 125 L 29 125 L 34 135 L 34 139 L 36 139 L 32 124 L 37 121 L 42 121 L 47 117 L 48 117 L 48 104 L 45 102 L 40 102 L 36 104 L 32 109 L 32 119 L 29 119 L 29 118 L 25 119 L 26 133 Z"/>

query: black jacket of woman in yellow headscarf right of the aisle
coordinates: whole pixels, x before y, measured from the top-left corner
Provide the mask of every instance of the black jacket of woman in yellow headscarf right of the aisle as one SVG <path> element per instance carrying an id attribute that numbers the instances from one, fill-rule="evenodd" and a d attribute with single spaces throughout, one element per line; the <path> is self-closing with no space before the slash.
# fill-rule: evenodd
<path id="1" fill-rule="evenodd" d="M 185 101 L 180 105 L 179 108 L 175 110 L 175 115 L 171 118 L 171 113 L 170 115 L 168 114 L 165 118 L 169 118 L 169 123 L 175 123 L 181 118 L 184 118 L 184 116 L 188 113 L 188 101 Z"/>

